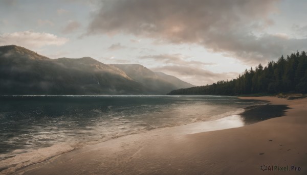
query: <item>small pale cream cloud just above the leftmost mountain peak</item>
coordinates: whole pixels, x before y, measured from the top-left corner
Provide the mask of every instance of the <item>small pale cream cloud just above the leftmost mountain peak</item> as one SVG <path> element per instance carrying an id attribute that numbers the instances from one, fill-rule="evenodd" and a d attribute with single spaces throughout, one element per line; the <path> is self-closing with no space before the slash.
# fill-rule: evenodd
<path id="1" fill-rule="evenodd" d="M 0 35 L 0 45 L 16 44 L 27 48 L 39 48 L 45 45 L 63 45 L 69 39 L 50 33 L 32 31 L 4 33 Z"/>

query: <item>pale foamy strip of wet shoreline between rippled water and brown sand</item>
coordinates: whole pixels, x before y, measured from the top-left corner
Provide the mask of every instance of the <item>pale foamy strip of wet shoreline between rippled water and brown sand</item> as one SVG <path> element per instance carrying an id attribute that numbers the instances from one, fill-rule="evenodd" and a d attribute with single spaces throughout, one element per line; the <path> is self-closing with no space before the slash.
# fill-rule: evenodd
<path id="1" fill-rule="evenodd" d="M 229 113 L 229 112 L 227 112 Z M 223 115 L 223 114 L 221 114 Z M 208 131 L 217 131 L 224 130 L 229 128 L 238 128 L 245 126 L 244 120 L 242 116 L 239 114 L 233 114 L 229 116 L 225 116 L 223 118 L 208 120 L 208 121 L 194 121 L 190 123 L 185 123 L 180 126 L 173 127 L 165 127 L 159 128 L 147 132 L 137 133 L 137 134 L 128 134 L 120 137 L 113 138 L 114 140 L 122 139 L 122 137 L 130 137 L 131 135 L 136 135 L 136 137 L 140 135 L 149 135 L 149 136 L 178 136 L 178 135 L 187 135 Z M 66 154 L 77 149 L 83 148 L 85 146 L 89 147 L 96 144 L 103 144 L 104 142 L 108 142 L 113 139 L 107 139 L 104 141 L 86 144 L 83 146 L 72 147 L 70 144 L 56 144 L 49 147 L 42 147 L 38 149 L 34 149 L 32 152 L 23 153 L 20 155 L 16 155 L 12 158 L 0 160 L 0 163 L 4 163 L 6 166 L 0 168 L 0 174 L 11 174 L 15 172 L 15 169 L 26 168 L 28 166 L 43 163 L 49 159 L 54 157 L 61 156 L 62 154 Z M 54 152 L 54 150 L 56 151 Z M 53 151 L 52 151 L 53 150 Z M 37 155 L 38 154 L 38 155 Z M 10 160 L 10 161 L 7 161 Z M 14 162 L 11 166 L 10 162 Z M 2 171 L 4 170 L 4 171 Z M 8 172 L 8 173 L 7 173 Z"/>

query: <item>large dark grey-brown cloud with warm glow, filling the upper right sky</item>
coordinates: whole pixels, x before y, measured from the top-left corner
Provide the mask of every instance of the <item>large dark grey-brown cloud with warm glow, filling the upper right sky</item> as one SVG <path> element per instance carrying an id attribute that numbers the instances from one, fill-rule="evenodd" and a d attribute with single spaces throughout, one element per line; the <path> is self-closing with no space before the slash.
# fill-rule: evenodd
<path id="1" fill-rule="evenodd" d="M 104 1 L 88 34 L 118 33 L 156 43 L 196 43 L 248 65 L 303 49 L 306 39 L 268 34 L 279 0 Z M 300 45 L 302 44 L 302 45 Z"/>

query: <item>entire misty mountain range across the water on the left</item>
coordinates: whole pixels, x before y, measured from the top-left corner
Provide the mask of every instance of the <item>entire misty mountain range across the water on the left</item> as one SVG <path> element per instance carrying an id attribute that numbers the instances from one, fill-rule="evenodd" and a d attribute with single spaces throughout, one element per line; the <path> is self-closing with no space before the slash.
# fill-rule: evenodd
<path id="1" fill-rule="evenodd" d="M 193 86 L 140 64 L 49 59 L 24 47 L 0 46 L 0 95 L 166 94 Z"/>

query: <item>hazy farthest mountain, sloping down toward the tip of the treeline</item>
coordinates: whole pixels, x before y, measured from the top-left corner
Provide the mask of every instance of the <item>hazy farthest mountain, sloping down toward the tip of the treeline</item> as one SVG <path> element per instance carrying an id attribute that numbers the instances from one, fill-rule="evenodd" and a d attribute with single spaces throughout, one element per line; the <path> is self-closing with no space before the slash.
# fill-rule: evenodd
<path id="1" fill-rule="evenodd" d="M 134 81 L 141 83 L 149 91 L 158 91 L 166 94 L 170 90 L 188 88 L 194 85 L 184 82 L 176 77 L 169 76 L 162 72 L 153 72 L 140 64 L 111 64 L 123 70 L 127 76 Z"/>

